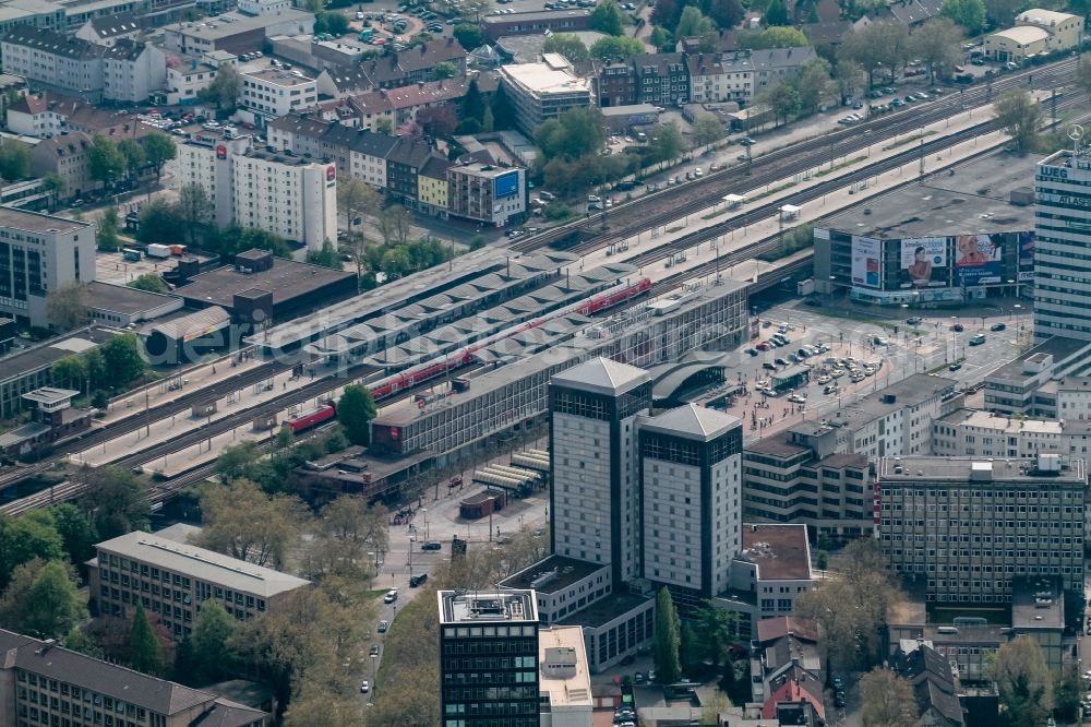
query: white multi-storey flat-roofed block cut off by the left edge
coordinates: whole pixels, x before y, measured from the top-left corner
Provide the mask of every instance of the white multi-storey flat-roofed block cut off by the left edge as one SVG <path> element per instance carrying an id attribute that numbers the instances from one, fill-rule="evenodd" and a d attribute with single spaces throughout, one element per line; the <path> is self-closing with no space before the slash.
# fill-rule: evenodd
<path id="1" fill-rule="evenodd" d="M 49 327 L 49 291 L 94 279 L 94 224 L 0 207 L 0 313 Z"/>

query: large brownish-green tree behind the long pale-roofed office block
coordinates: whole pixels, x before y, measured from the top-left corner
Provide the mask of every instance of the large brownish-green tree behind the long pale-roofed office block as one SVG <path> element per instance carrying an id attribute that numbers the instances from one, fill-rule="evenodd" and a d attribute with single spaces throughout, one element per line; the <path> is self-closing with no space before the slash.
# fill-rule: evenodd
<path id="1" fill-rule="evenodd" d="M 200 545 L 269 568 L 284 563 L 307 520 L 299 499 L 267 496 L 245 479 L 205 490 L 201 510 L 205 526 Z"/>

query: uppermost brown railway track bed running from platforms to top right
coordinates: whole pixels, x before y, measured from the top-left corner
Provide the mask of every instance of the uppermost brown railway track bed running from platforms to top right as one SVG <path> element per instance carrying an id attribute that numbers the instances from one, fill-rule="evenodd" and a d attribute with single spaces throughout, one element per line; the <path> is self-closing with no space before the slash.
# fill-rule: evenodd
<path id="1" fill-rule="evenodd" d="M 1031 76 L 1038 88 L 1064 85 L 1075 79 L 1075 70 L 1076 59 L 1066 59 L 1000 76 L 991 87 L 970 86 L 960 93 L 951 93 L 923 106 L 908 106 L 851 129 L 830 130 L 819 138 L 764 154 L 751 163 L 732 165 L 681 187 L 671 187 L 585 221 L 547 230 L 514 243 L 512 249 L 528 252 L 563 242 L 572 236 L 583 236 L 588 239 L 577 242 L 575 247 L 562 247 L 583 253 L 597 250 L 704 210 L 726 194 L 745 193 L 771 184 L 813 169 L 817 162 L 849 156 L 902 133 L 943 121 L 966 108 L 983 106 L 1005 91 L 1028 86 Z M 604 223 L 612 223 L 613 226 L 600 230 Z"/>

